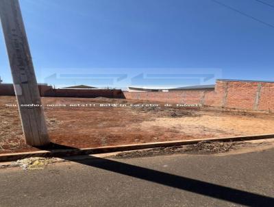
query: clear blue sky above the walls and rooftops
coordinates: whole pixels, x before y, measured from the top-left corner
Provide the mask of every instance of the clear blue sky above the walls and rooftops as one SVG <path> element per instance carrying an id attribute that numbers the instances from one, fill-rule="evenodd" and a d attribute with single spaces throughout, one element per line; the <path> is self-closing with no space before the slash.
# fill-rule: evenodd
<path id="1" fill-rule="evenodd" d="M 263 23 L 212 0 L 20 0 L 38 82 L 119 88 L 274 80 L 274 7 L 219 2 Z M 2 34 L 0 48 L 0 75 L 12 82 Z"/>

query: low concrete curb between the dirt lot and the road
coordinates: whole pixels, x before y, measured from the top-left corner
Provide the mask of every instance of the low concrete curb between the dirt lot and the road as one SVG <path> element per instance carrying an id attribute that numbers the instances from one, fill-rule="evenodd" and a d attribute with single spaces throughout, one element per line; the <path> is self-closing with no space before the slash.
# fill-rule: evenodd
<path id="1" fill-rule="evenodd" d="M 29 151 L 19 152 L 12 154 L 0 154 L 0 162 L 15 161 L 29 157 L 65 157 L 65 156 L 78 156 L 86 154 L 103 154 L 115 151 L 129 151 L 136 149 L 147 149 L 153 147 L 173 147 L 180 145 L 193 145 L 201 141 L 249 141 L 264 138 L 274 138 L 274 134 L 258 134 L 252 136 L 232 136 L 232 137 L 221 137 L 221 138 L 206 138 L 206 139 L 191 139 L 186 141 L 166 141 L 158 143 L 142 143 L 134 145 L 116 145 L 110 147 L 95 147 L 95 148 L 82 148 L 82 149 L 54 149 L 52 151 L 40 150 L 40 151 Z"/>

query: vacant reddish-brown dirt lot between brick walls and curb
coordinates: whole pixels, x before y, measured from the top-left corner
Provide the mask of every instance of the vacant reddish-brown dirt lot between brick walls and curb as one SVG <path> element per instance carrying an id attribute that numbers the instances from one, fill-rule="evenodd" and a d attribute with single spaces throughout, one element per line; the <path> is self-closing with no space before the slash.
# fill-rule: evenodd
<path id="1" fill-rule="evenodd" d="M 77 148 L 274 134 L 274 114 L 140 106 L 140 101 L 106 98 L 44 97 L 42 103 L 51 141 Z M 5 104 L 16 104 L 15 97 L 0 97 L 0 153 L 37 150 L 24 143 L 16 106 Z"/>

